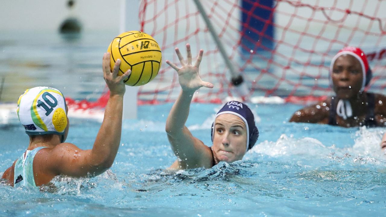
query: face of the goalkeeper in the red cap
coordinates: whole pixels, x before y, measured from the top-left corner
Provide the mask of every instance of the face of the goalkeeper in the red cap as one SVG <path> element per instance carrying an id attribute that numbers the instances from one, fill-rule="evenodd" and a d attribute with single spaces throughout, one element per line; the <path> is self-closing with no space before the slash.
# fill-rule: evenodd
<path id="1" fill-rule="evenodd" d="M 337 97 L 356 97 L 362 88 L 363 73 L 358 59 L 349 54 L 338 57 L 332 67 L 332 84 Z"/>

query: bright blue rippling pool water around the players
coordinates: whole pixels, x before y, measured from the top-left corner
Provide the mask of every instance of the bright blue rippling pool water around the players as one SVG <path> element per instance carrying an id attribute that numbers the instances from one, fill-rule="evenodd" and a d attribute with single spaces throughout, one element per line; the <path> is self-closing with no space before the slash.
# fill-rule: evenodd
<path id="1" fill-rule="evenodd" d="M 299 105 L 251 105 L 261 136 L 242 161 L 170 173 L 164 169 L 176 158 L 164 127 L 171 106 L 140 106 L 137 120 L 125 120 L 115 163 L 98 177 L 57 177 L 44 191 L 0 184 L 0 216 L 384 215 L 384 129 L 288 123 Z M 186 125 L 207 145 L 220 107 L 191 107 Z M 90 149 L 100 123 L 70 124 L 67 141 Z M 0 138 L 2 175 L 28 137 L 15 122 L 0 125 Z"/>

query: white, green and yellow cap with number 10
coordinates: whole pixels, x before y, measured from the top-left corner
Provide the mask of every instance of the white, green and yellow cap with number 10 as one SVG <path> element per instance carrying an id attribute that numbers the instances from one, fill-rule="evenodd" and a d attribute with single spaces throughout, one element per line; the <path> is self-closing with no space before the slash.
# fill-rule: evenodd
<path id="1" fill-rule="evenodd" d="M 55 88 L 27 89 L 17 100 L 17 116 L 28 135 L 63 135 L 67 126 L 66 100 Z"/>

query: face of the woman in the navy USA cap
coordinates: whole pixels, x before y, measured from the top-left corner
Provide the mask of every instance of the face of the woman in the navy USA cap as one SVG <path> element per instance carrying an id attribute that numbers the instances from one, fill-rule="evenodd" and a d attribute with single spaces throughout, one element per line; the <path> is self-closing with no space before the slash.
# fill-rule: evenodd
<path id="1" fill-rule="evenodd" d="M 247 149 L 247 128 L 240 117 L 218 115 L 213 134 L 212 150 L 218 161 L 231 163 L 242 159 Z"/>

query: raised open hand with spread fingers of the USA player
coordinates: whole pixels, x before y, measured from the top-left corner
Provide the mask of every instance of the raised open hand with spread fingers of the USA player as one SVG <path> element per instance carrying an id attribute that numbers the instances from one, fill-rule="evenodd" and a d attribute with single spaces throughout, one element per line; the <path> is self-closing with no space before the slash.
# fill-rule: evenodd
<path id="1" fill-rule="evenodd" d="M 196 63 L 192 65 L 192 54 L 190 51 L 190 44 L 186 44 L 186 53 L 187 53 L 186 63 L 181 53 L 179 52 L 179 49 L 176 47 L 175 50 L 176 50 L 178 59 L 181 63 L 181 68 L 178 68 L 176 64 L 171 63 L 169 60 L 166 60 L 166 63 L 168 63 L 169 66 L 171 66 L 171 68 L 177 71 L 179 85 L 181 85 L 182 90 L 195 92 L 201 86 L 205 86 L 207 88 L 213 88 L 213 84 L 201 80 L 200 75 L 198 73 L 198 67 L 200 66 L 204 51 L 202 49 L 200 50 L 200 53 L 198 53 L 198 56 L 197 56 Z"/>

